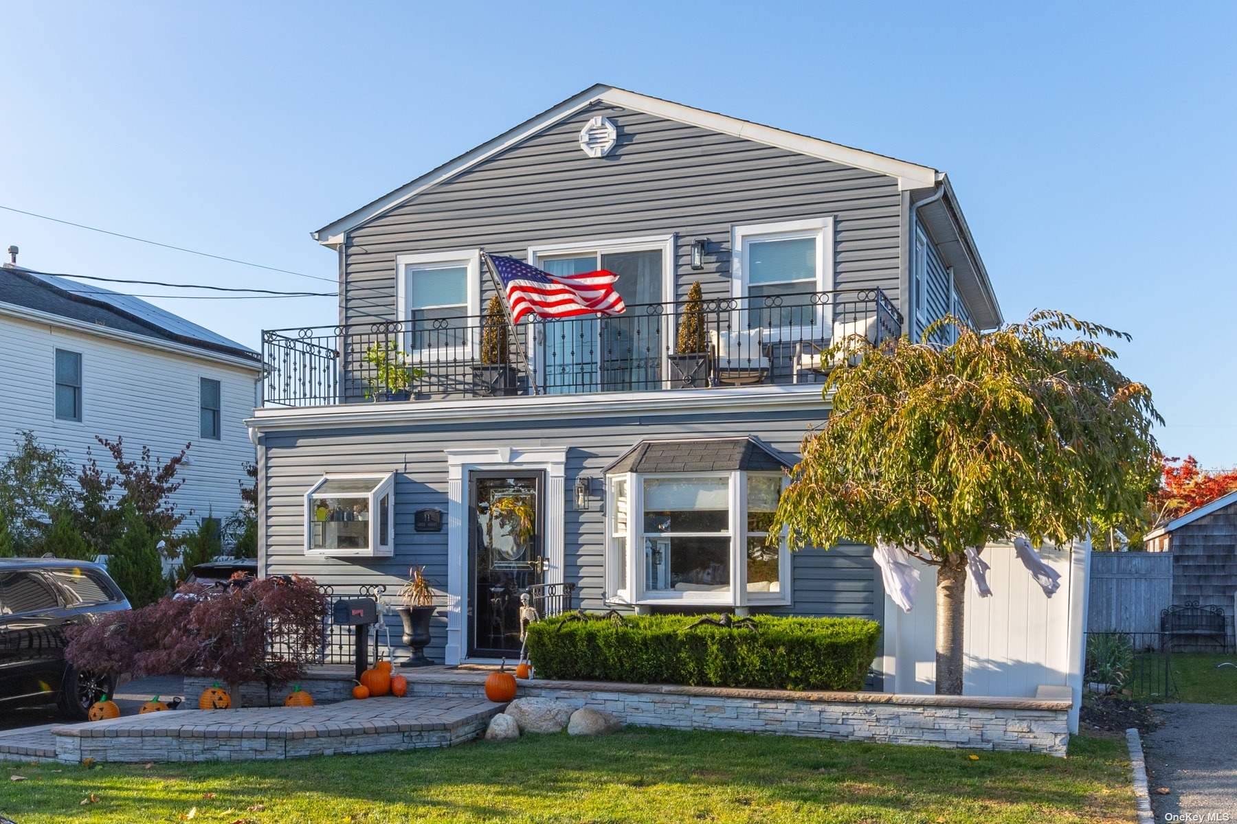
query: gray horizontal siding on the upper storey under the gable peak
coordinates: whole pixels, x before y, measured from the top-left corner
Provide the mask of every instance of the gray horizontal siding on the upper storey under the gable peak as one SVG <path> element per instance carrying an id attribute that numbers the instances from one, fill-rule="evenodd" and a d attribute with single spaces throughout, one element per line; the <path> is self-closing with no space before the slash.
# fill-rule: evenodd
<path id="1" fill-rule="evenodd" d="M 597 114 L 618 145 L 589 158 L 576 136 Z M 529 246 L 670 232 L 678 294 L 695 279 L 706 296 L 730 294 L 731 226 L 828 215 L 836 288 L 880 287 L 897 304 L 901 209 L 894 178 L 597 104 L 350 231 L 341 315 L 393 317 L 400 253 L 523 258 Z M 709 240 L 703 271 L 690 268 L 698 237 Z"/>

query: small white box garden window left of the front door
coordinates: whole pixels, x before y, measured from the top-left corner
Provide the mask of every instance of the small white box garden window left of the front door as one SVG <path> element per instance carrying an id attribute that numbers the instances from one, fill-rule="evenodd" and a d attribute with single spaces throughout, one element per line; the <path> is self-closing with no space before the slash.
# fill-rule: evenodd
<path id="1" fill-rule="evenodd" d="M 324 474 L 306 492 L 306 555 L 390 556 L 395 473 Z"/>

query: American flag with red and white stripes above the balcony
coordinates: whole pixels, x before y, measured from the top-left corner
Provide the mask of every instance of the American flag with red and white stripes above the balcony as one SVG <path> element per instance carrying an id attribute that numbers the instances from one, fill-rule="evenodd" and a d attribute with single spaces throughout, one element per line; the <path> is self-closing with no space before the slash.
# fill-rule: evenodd
<path id="1" fill-rule="evenodd" d="M 513 257 L 486 254 L 485 258 L 507 290 L 512 324 L 529 313 L 538 317 L 570 317 L 621 315 L 627 310 L 614 285 L 618 275 L 609 269 L 549 274 Z"/>

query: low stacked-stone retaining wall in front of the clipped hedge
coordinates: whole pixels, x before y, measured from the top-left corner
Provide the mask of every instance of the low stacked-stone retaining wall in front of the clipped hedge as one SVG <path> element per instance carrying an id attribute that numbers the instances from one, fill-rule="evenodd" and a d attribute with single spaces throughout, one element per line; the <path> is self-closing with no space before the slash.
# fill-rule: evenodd
<path id="1" fill-rule="evenodd" d="M 413 675 L 409 694 L 476 696 L 475 676 Z M 1069 700 L 521 681 L 520 696 L 611 713 L 627 724 L 1064 756 Z"/>

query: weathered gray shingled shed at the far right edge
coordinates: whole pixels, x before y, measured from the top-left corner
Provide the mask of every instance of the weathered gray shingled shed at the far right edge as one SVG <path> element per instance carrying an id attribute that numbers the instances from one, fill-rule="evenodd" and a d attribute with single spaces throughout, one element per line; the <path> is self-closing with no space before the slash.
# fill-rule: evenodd
<path id="1" fill-rule="evenodd" d="M 1233 614 L 1237 594 L 1237 492 L 1147 535 L 1147 549 L 1173 553 L 1173 605 L 1197 603 Z"/>

